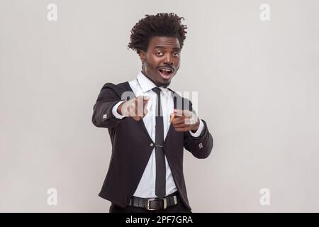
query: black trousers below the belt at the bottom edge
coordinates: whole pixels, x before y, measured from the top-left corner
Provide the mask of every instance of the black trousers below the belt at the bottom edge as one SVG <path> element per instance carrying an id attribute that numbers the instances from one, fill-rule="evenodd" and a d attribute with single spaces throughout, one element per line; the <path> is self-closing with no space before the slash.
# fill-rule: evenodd
<path id="1" fill-rule="evenodd" d="M 167 209 L 160 209 L 157 211 L 148 211 L 147 209 L 143 209 L 135 206 L 126 206 L 122 208 L 121 206 L 117 206 L 116 204 L 111 204 L 110 213 L 191 213 L 189 209 L 183 204 L 183 202 L 179 201 L 178 204 L 167 207 Z"/>

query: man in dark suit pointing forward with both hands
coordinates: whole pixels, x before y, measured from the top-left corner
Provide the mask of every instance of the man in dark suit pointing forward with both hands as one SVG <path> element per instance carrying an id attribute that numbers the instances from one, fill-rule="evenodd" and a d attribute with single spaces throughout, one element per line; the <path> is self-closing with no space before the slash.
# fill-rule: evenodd
<path id="1" fill-rule="evenodd" d="M 146 15 L 129 48 L 142 61 L 130 82 L 104 84 L 92 122 L 108 128 L 111 162 L 99 196 L 110 212 L 191 212 L 183 174 L 184 148 L 206 158 L 213 138 L 188 99 L 168 88 L 179 70 L 186 26 L 174 13 Z"/>

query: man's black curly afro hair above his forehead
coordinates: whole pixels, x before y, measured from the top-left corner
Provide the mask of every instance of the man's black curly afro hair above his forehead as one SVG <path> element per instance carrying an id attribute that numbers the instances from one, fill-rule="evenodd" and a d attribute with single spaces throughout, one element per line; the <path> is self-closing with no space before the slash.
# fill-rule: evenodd
<path id="1" fill-rule="evenodd" d="M 179 40 L 180 48 L 183 47 L 186 38 L 187 26 L 181 24 L 183 17 L 175 13 L 157 13 L 156 15 L 145 15 L 130 31 L 130 43 L 128 48 L 140 53 L 147 51 L 148 43 L 154 36 L 175 37 Z"/>

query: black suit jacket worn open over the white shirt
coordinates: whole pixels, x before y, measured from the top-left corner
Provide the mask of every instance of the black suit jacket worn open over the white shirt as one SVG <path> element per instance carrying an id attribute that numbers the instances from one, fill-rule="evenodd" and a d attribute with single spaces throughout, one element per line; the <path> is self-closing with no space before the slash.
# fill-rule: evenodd
<path id="1" fill-rule="evenodd" d="M 108 128 L 112 143 L 111 161 L 99 196 L 118 206 L 125 207 L 138 187 L 155 142 L 147 133 L 142 120 L 135 121 L 130 117 L 118 119 L 113 116 L 113 106 L 118 101 L 127 100 L 123 98 L 123 92 L 134 94 L 128 82 L 116 85 L 104 84 L 94 105 L 92 123 L 96 127 Z M 176 92 L 172 92 L 174 109 L 193 111 L 189 99 L 184 99 Z M 198 138 L 192 137 L 189 131 L 175 131 L 171 124 L 164 140 L 164 153 L 179 196 L 190 210 L 184 181 L 183 154 L 185 148 L 197 158 L 206 158 L 210 155 L 213 148 L 213 137 L 205 121 L 203 124 L 204 129 Z"/>

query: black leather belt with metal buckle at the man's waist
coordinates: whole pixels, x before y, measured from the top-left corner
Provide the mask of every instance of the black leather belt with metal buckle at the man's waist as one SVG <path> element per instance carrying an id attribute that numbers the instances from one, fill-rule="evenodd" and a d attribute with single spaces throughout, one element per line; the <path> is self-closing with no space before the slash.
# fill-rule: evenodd
<path id="1" fill-rule="evenodd" d="M 163 199 L 155 198 L 155 199 L 144 199 L 132 196 L 130 199 L 130 206 L 141 207 L 147 209 L 149 211 L 156 211 L 159 209 L 167 209 L 169 206 L 173 206 L 178 204 L 180 201 L 178 192 L 174 192 L 169 196 L 164 197 Z"/>

